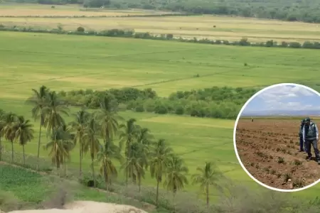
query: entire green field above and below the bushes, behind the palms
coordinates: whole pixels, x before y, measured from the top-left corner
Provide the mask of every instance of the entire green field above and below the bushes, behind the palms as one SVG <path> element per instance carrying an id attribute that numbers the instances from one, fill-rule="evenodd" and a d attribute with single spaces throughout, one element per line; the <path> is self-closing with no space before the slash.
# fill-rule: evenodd
<path id="1" fill-rule="evenodd" d="M 319 56 L 316 50 L 1 32 L 0 108 L 31 119 L 31 107 L 23 102 L 31 96 L 32 88 L 38 89 L 42 84 L 57 91 L 151 87 L 161 96 L 176 90 L 257 87 L 279 82 L 308 82 L 319 89 L 315 81 Z M 132 111 L 121 115 L 136 118 L 156 138 L 167 139 L 186 160 L 191 173 L 207 160 L 213 160 L 233 180 L 256 185 L 235 158 L 234 121 Z M 37 136 L 38 124 L 35 130 Z M 36 153 L 36 140 L 26 146 L 27 153 Z M 10 150 L 9 143 L 6 150 Z M 16 145 L 16 151 L 21 151 L 21 147 Z M 41 151 L 42 156 L 47 154 Z M 71 165 L 78 167 L 78 153 L 74 152 L 72 158 Z M 89 167 L 89 158 L 84 164 Z M 146 177 L 143 183 L 154 185 L 154 180 Z M 312 197 L 318 188 L 301 193 Z M 188 189 L 196 190 L 196 186 L 189 185 Z"/>

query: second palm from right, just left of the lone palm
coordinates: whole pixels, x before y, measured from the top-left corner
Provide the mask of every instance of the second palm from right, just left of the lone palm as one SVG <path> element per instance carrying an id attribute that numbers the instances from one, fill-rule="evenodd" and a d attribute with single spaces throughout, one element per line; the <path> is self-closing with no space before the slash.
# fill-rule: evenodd
<path id="1" fill-rule="evenodd" d="M 166 164 L 166 180 L 164 181 L 166 190 L 176 195 L 177 190 L 183 189 L 184 185 L 188 184 L 187 173 L 188 168 L 184 165 L 183 159 L 172 155 Z"/>

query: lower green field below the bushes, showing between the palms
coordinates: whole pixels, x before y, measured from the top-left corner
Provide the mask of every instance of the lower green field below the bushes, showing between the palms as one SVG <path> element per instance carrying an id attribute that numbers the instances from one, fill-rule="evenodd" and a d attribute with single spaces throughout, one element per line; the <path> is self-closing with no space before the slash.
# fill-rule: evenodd
<path id="1" fill-rule="evenodd" d="M 31 119 L 31 107 L 23 104 L 13 104 L 10 100 L 1 101 L 1 108 L 5 111 L 14 111 L 17 114 L 23 114 L 26 118 Z M 76 111 L 72 109 L 73 113 Z M 227 171 L 226 175 L 232 177 L 234 173 L 241 173 L 242 170 L 238 166 L 238 161 L 235 158 L 235 153 L 232 144 L 233 125 L 234 121 L 219 120 L 219 119 L 192 119 L 189 116 L 171 116 L 171 115 L 156 115 L 149 113 L 134 113 L 132 111 L 124 111 L 120 113 L 125 119 L 135 118 L 141 126 L 148 127 L 154 134 L 155 138 L 164 138 L 168 140 L 174 151 L 178 155 L 182 155 L 186 160 L 186 164 L 191 173 L 196 171 L 198 166 L 204 165 L 208 160 L 217 161 L 219 167 L 223 171 Z M 66 121 L 71 121 L 72 117 L 66 117 Z M 36 131 L 36 139 L 28 143 L 26 153 L 36 155 L 37 151 L 37 136 L 38 122 L 34 123 Z M 220 134 L 222 136 L 220 136 Z M 43 131 L 43 141 L 45 144 L 46 131 Z M 10 143 L 5 143 L 6 151 L 11 150 Z M 214 150 L 215 155 L 212 151 Z M 22 152 L 22 147 L 16 144 L 15 151 Z M 48 156 L 48 151 L 41 151 L 42 157 Z M 78 147 L 75 148 L 71 155 L 70 165 L 73 168 L 78 168 Z M 84 160 L 84 167 L 89 170 L 90 158 L 87 156 Z M 242 175 L 244 176 L 244 175 Z M 123 174 L 120 173 L 120 178 L 124 180 Z M 244 177 L 244 180 L 246 178 Z M 247 180 L 247 179 L 246 179 Z M 154 180 L 146 175 L 146 180 L 143 181 L 146 185 L 154 185 Z M 189 185 L 187 189 L 198 190 L 198 187 Z"/>

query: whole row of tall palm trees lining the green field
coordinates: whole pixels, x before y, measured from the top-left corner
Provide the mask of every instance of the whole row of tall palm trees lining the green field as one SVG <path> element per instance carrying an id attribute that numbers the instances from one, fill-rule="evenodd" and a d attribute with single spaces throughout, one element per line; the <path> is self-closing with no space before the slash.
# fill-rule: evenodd
<path id="1" fill-rule="evenodd" d="M 142 185 L 146 171 L 156 180 L 156 204 L 159 200 L 159 184 L 164 180 L 166 190 L 176 195 L 178 190 L 188 184 L 186 175 L 188 168 L 182 158 L 176 155 L 164 139 L 155 140 L 149 129 L 136 124 L 136 119 L 124 119 L 117 114 L 108 97 L 102 97 L 100 109 L 89 112 L 81 108 L 73 114 L 73 121 L 66 124 L 63 116 L 69 116 L 70 110 L 57 97 L 54 91 L 45 86 L 39 90 L 33 89 L 33 96 L 27 100 L 32 104 L 33 119 L 39 122 L 37 170 L 41 151 L 41 132 L 46 129 L 48 143 L 43 146 L 50 149 L 49 156 L 57 169 L 61 165 L 66 173 L 67 160 L 70 152 L 78 145 L 79 174 L 82 175 L 82 160 L 85 154 L 90 155 L 92 179 L 96 187 L 95 164 L 100 164 L 100 174 L 105 180 L 107 189 L 116 180 L 118 168 L 115 160 L 124 170 L 125 182 L 131 180 L 134 184 Z M 11 142 L 11 160 L 14 161 L 14 141 L 23 146 L 23 164 L 25 163 L 24 146 L 33 139 L 33 125 L 23 116 L 12 112 L 0 111 L 0 160 L 1 136 Z M 119 146 L 114 141 L 119 140 Z M 101 142 L 102 141 L 102 142 Z M 200 184 L 209 204 L 210 185 L 216 185 L 221 173 L 206 163 L 205 168 L 198 168 L 200 173 L 192 175 L 193 183 Z"/>

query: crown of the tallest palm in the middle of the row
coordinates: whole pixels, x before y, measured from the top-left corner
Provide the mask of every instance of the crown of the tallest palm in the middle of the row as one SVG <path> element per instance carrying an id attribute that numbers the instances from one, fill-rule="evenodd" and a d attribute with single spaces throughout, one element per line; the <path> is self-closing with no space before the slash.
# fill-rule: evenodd
<path id="1" fill-rule="evenodd" d="M 100 109 L 95 113 L 95 118 L 100 121 L 101 136 L 105 143 L 112 140 L 119 128 L 118 121 L 122 118 L 117 115 L 110 97 L 103 97 L 100 102 Z"/>

